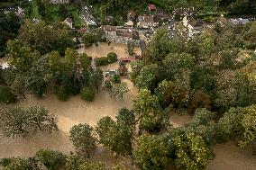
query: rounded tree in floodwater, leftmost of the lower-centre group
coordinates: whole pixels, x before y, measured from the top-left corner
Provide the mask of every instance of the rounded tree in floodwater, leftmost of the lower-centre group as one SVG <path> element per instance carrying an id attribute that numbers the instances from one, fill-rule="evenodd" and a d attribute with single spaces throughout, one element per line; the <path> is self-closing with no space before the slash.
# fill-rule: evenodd
<path id="1" fill-rule="evenodd" d="M 78 154 L 82 154 L 86 158 L 90 157 L 90 152 L 96 147 L 93 129 L 87 124 L 78 124 L 73 126 L 69 133 L 69 139 Z"/>

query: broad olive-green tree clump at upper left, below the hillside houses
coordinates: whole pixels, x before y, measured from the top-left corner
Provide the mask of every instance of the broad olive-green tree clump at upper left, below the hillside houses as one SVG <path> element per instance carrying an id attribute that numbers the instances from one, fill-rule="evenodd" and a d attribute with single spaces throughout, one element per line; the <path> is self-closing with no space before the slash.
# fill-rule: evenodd
<path id="1" fill-rule="evenodd" d="M 25 21 L 19 32 L 18 39 L 38 50 L 41 54 L 47 54 L 52 50 L 59 51 L 63 55 L 68 47 L 73 47 L 73 40 L 68 26 L 63 23 L 47 24 L 46 22 Z"/>

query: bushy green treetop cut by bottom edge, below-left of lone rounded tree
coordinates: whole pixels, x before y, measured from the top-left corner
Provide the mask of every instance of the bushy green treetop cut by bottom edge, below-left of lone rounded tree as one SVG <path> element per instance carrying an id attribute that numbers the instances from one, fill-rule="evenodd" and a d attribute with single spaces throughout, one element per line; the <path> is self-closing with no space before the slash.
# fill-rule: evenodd
<path id="1" fill-rule="evenodd" d="M 50 149 L 40 149 L 35 154 L 36 158 L 49 170 L 60 170 L 66 164 L 64 154 Z"/>

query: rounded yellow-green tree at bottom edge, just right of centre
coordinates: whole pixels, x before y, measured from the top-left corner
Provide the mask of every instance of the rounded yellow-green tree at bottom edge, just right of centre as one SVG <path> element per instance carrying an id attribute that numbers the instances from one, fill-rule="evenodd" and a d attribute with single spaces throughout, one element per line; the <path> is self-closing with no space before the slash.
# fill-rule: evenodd
<path id="1" fill-rule="evenodd" d="M 163 169 L 171 162 L 171 149 L 168 140 L 162 135 L 142 135 L 133 151 L 133 159 L 141 169 Z"/>

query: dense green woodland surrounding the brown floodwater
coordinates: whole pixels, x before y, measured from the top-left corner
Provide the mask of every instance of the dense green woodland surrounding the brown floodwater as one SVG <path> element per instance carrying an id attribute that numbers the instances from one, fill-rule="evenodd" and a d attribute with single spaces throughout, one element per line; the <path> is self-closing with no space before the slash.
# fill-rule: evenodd
<path id="1" fill-rule="evenodd" d="M 184 2 L 188 5 L 195 1 Z M 107 4 L 111 10 L 117 5 L 128 8 L 133 1 L 87 3 Z M 176 1 L 169 3 L 178 5 Z M 226 6 L 231 13 L 237 9 L 255 12 L 254 1 L 215 3 Z M 52 115 L 42 107 L 4 103 L 15 103 L 29 94 L 40 99 L 49 93 L 63 101 L 78 94 L 83 100 L 93 101 L 102 86 L 113 90 L 116 98 L 127 92 L 119 77 L 104 82 L 103 71 L 92 67 L 87 54 L 78 54 L 74 36 L 64 24 L 21 22 L 11 13 L 0 17 L 4 37 L 1 51 L 10 65 L 0 69 L 0 130 L 6 137 L 23 137 L 39 130 L 50 132 L 58 127 L 54 112 Z M 114 120 L 106 116 L 96 127 L 86 123 L 72 127 L 69 139 L 76 153 L 65 155 L 41 149 L 30 158 L 1 159 L 0 165 L 5 170 L 37 170 L 42 165 L 49 170 L 121 169 L 89 161 L 98 144 L 116 157 L 132 157 L 133 165 L 144 170 L 169 165 L 176 169 L 206 169 L 215 157 L 211 147 L 229 140 L 240 148 L 250 146 L 255 154 L 256 56 L 251 50 L 255 48 L 256 22 L 245 26 L 216 23 L 192 40 L 171 37 L 168 30 L 160 29 L 145 57 L 131 64 L 130 78 L 140 90 L 132 110 L 119 110 Z M 249 55 L 243 57 L 244 51 Z M 116 58 L 110 53 L 96 62 L 100 66 Z M 193 119 L 184 127 L 173 128 L 169 112 L 187 112 Z"/>

